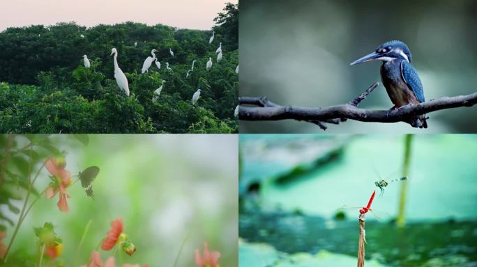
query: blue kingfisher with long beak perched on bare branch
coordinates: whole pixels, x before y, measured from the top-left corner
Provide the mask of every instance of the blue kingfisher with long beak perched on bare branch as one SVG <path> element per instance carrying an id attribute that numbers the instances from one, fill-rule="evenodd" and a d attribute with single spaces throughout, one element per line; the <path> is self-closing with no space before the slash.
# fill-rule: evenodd
<path id="1" fill-rule="evenodd" d="M 376 51 L 351 63 L 355 65 L 381 60 L 381 81 L 394 106 L 390 111 L 406 105 L 423 103 L 424 91 L 416 69 L 411 65 L 411 51 L 404 42 L 393 40 L 381 44 Z M 427 128 L 425 115 L 411 121 L 412 127 Z"/>

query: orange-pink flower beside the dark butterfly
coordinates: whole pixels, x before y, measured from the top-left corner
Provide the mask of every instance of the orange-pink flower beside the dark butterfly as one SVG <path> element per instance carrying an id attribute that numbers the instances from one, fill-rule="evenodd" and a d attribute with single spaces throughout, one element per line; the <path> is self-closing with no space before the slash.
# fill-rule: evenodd
<path id="1" fill-rule="evenodd" d="M 45 191 L 45 197 L 52 198 L 59 193 L 59 201 L 56 203 L 56 206 L 58 206 L 60 211 L 69 211 L 66 197 L 70 197 L 70 195 L 66 192 L 66 188 L 71 185 L 71 174 L 68 170 L 65 170 L 65 160 L 63 158 L 56 159 L 51 157 L 47 159 L 45 167 L 54 177 L 54 181 L 50 183 L 50 186 Z"/>

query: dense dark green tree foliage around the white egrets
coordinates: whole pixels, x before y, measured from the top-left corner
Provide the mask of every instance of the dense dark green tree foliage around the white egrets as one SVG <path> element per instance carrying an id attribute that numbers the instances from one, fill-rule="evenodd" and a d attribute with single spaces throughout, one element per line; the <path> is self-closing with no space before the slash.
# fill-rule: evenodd
<path id="1" fill-rule="evenodd" d="M 0 33 L 0 131 L 13 133 L 232 133 L 238 131 L 238 5 L 212 31 L 126 22 L 89 29 L 74 22 Z M 223 58 L 217 63 L 219 42 Z M 114 79 L 111 49 L 129 82 Z M 169 54 L 169 48 L 174 56 Z M 161 69 L 142 64 L 156 49 Z M 91 67 L 86 68 L 86 54 Z M 209 57 L 211 70 L 206 70 Z M 186 78 L 192 61 L 195 68 Z M 168 62 L 172 71 L 165 67 Z M 165 80 L 156 102 L 153 92 Z M 197 104 L 192 95 L 201 89 Z"/>

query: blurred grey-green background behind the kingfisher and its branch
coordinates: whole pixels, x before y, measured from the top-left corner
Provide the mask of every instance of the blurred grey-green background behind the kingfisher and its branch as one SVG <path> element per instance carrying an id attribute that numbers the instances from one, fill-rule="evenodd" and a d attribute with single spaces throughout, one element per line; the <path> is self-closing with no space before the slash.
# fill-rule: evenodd
<path id="1" fill-rule="evenodd" d="M 357 97 L 375 81 L 381 63 L 350 66 L 388 40 L 411 49 L 425 99 L 476 92 L 477 2 L 240 1 L 241 96 L 266 96 L 282 105 L 331 106 Z M 382 85 L 360 104 L 388 109 Z M 474 133 L 477 108 L 430 114 L 429 129 L 348 121 L 330 133 Z M 315 124 L 240 122 L 241 133 L 316 133 Z"/>

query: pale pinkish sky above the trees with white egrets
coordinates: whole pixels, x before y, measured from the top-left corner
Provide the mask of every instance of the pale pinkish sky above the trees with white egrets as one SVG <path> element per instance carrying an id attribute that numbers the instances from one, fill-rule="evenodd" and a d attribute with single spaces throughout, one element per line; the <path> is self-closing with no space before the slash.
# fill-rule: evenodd
<path id="1" fill-rule="evenodd" d="M 0 31 L 12 26 L 141 22 L 211 29 L 225 3 L 239 0 L 0 0 Z"/>

